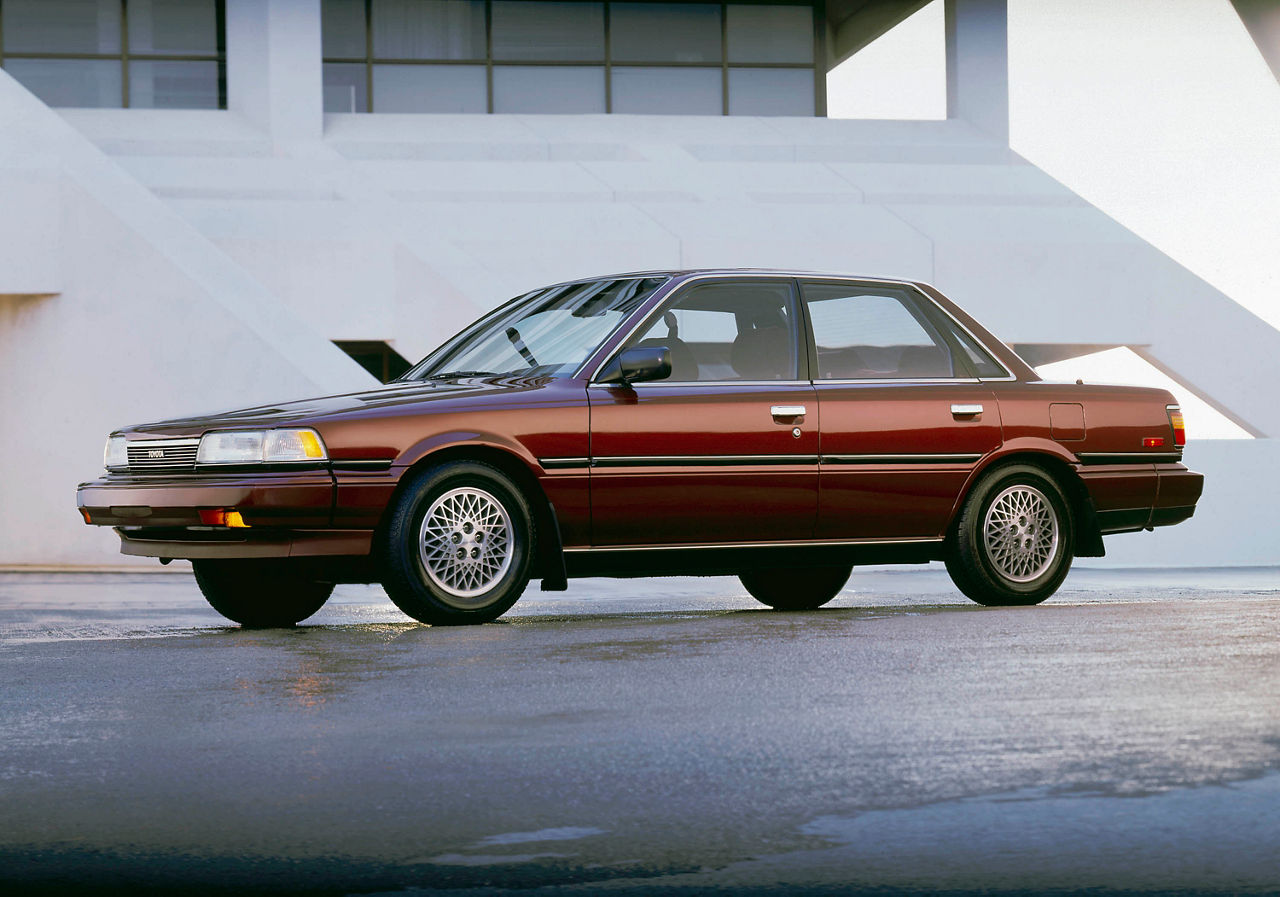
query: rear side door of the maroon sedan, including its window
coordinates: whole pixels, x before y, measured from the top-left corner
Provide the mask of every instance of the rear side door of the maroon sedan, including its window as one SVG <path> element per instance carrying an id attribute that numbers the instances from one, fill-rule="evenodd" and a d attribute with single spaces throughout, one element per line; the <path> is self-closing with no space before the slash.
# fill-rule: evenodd
<path id="1" fill-rule="evenodd" d="M 817 537 L 940 537 L 1001 443 L 975 365 L 1002 369 L 910 285 L 805 280 L 801 293 L 822 420 Z"/>

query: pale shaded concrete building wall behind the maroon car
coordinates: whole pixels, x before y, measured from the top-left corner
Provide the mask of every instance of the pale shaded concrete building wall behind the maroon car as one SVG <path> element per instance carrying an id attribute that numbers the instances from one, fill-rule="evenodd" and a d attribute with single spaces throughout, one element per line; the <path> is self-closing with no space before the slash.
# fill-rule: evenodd
<path id="1" fill-rule="evenodd" d="M 1007 342 L 1147 345 L 1280 433 L 1280 331 L 1010 151 L 1007 102 L 974 81 L 1004 63 L 964 18 L 1001 8 L 948 13 L 970 35 L 952 52 L 983 55 L 951 67 L 955 107 L 980 127 L 321 118 L 317 69 L 261 55 L 311 54 L 314 0 L 229 1 L 227 111 L 52 111 L 0 72 L 0 238 L 18 247 L 0 239 L 0 459 L 26 472 L 0 485 L 22 508 L 0 518 L 0 563 L 116 560 L 72 505 L 114 426 L 357 388 L 367 375 L 328 340 L 416 358 L 507 297 L 621 270 L 924 279 Z M 1106 563 L 1280 559 L 1254 488 L 1272 445 L 1193 444 L 1211 477 L 1201 516 L 1110 540 Z"/>

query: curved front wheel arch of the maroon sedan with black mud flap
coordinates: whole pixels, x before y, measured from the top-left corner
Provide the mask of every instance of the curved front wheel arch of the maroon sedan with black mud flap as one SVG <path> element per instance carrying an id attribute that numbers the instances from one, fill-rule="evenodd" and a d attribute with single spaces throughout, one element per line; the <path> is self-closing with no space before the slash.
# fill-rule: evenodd
<path id="1" fill-rule="evenodd" d="M 513 484 L 529 499 L 529 508 L 532 512 L 534 528 L 538 532 L 538 553 L 531 563 L 531 578 L 541 578 L 543 589 L 562 589 L 564 581 L 564 552 L 561 543 L 559 521 L 556 518 L 556 508 L 547 491 L 538 481 L 538 473 L 529 461 L 511 450 L 509 448 L 494 445 L 492 443 L 452 443 L 438 445 L 426 450 L 413 463 L 407 466 L 396 484 L 396 489 L 387 502 L 379 518 L 374 534 L 374 543 L 380 544 L 385 536 L 387 523 L 392 508 L 399 500 L 410 480 L 420 471 L 438 467 L 453 461 L 474 461 L 488 464 L 511 479 Z"/>

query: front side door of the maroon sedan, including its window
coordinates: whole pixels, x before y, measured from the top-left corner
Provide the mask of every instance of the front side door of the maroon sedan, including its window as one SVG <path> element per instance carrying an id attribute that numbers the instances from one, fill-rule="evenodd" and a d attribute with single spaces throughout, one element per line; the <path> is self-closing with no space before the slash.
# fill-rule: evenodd
<path id="1" fill-rule="evenodd" d="M 591 384 L 591 543 L 710 545 L 813 536 L 818 415 L 788 278 L 696 279 L 623 348 L 672 372 Z"/>

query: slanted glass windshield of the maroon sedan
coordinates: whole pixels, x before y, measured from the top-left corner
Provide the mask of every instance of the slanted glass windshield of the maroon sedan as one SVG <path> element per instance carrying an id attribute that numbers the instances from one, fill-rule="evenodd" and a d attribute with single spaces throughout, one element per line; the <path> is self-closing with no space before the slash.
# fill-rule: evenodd
<path id="1" fill-rule="evenodd" d="M 570 376 L 668 278 L 548 287 L 472 324 L 401 380 L 448 376 Z"/>

